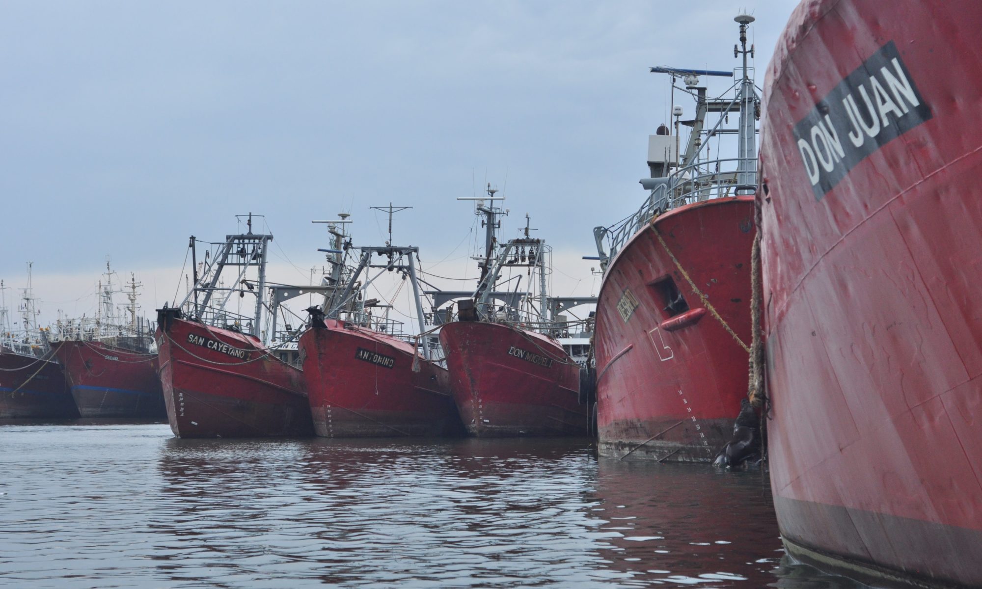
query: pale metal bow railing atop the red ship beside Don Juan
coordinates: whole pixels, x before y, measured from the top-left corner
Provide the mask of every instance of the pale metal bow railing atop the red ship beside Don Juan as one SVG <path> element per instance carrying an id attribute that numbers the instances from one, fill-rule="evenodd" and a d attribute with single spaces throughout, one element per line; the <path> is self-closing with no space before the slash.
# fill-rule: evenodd
<path id="1" fill-rule="evenodd" d="M 612 227 L 593 230 L 601 265 L 606 267 L 607 261 L 617 255 L 628 240 L 662 213 L 693 202 L 755 193 L 756 166 L 756 158 L 703 160 L 683 166 L 666 178 L 650 179 L 651 184 L 657 186 L 650 190 L 634 214 Z M 741 178 L 747 181 L 740 182 Z M 607 251 L 605 239 L 609 245 Z"/>

